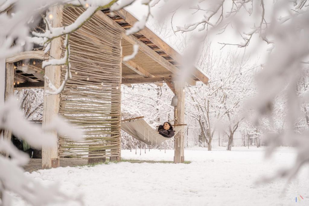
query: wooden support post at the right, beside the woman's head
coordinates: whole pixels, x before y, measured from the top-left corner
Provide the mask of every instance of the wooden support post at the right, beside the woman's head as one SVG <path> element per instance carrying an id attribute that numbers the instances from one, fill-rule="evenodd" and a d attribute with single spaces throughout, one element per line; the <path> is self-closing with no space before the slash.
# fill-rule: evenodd
<path id="1" fill-rule="evenodd" d="M 175 93 L 177 94 L 178 103 L 175 107 L 175 123 L 184 124 L 184 86 L 185 83 L 181 81 L 175 81 Z M 184 133 L 180 131 L 175 137 L 175 153 L 174 163 L 184 162 Z"/>

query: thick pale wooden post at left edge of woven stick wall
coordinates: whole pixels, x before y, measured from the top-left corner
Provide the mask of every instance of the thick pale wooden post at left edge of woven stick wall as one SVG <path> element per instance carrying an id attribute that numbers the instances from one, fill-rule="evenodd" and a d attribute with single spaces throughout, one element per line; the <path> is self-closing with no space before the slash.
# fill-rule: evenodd
<path id="1" fill-rule="evenodd" d="M 52 27 L 62 26 L 62 12 L 63 6 L 53 6 L 51 8 L 53 14 L 53 19 L 51 20 Z M 60 59 L 62 53 L 61 37 L 53 39 L 50 46 L 50 59 Z M 49 78 L 49 81 L 53 83 L 56 87 L 60 86 L 61 82 L 61 66 L 60 65 L 50 65 L 45 68 L 45 75 Z M 44 90 L 50 90 L 48 88 L 47 82 L 44 84 Z M 60 95 L 44 95 L 43 101 L 43 127 L 50 124 L 54 117 L 57 116 L 60 106 Z M 52 131 L 51 135 L 58 139 L 57 132 Z M 59 166 L 59 161 L 54 161 L 52 164 L 52 159 L 58 159 L 58 145 L 50 147 L 48 145 L 43 145 L 42 147 L 42 168 L 50 169 L 52 167 Z"/>

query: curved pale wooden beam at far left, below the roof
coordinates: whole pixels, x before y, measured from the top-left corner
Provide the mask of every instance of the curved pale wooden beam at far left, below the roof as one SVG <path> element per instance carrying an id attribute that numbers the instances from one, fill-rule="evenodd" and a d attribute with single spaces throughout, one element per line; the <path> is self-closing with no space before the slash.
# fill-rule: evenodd
<path id="1" fill-rule="evenodd" d="M 15 61 L 20 61 L 24 59 L 44 59 L 48 60 L 49 55 L 45 54 L 44 51 L 27 51 L 19 52 L 11 57 L 6 58 L 6 63 L 13 63 Z"/>

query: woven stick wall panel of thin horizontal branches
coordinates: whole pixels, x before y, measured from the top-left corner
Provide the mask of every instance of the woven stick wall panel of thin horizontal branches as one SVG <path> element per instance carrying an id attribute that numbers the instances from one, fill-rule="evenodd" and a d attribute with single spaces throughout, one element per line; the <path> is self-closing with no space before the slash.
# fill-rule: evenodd
<path id="1" fill-rule="evenodd" d="M 63 25 L 82 12 L 81 8 L 66 8 Z M 59 137 L 59 157 L 120 156 L 121 33 L 94 16 L 70 35 L 70 63 L 72 79 L 61 94 L 59 114 L 82 128 L 85 139 Z"/>

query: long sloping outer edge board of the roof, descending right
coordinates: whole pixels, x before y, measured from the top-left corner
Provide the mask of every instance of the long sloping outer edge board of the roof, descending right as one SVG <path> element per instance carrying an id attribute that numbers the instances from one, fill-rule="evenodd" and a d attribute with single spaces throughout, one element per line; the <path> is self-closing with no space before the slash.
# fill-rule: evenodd
<path id="1" fill-rule="evenodd" d="M 121 9 L 119 11 L 115 11 L 117 15 L 119 15 L 121 18 L 123 18 L 127 23 L 130 25 L 134 25 L 135 22 L 138 20 L 131 15 L 129 12 L 125 11 L 124 9 Z M 145 27 L 140 31 L 142 35 L 144 35 L 147 39 L 149 39 L 152 43 L 154 43 L 157 47 L 162 49 L 165 53 L 167 53 L 170 57 L 175 59 L 178 62 L 181 62 L 181 55 L 176 52 L 173 48 L 171 48 L 167 43 L 165 43 L 162 39 L 160 39 L 159 36 L 155 35 L 154 32 L 152 32 L 149 28 Z M 201 82 L 208 84 L 208 77 L 205 76 L 201 72 L 200 69 L 194 67 L 193 75 L 198 78 Z"/>

